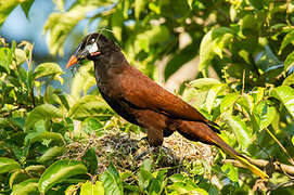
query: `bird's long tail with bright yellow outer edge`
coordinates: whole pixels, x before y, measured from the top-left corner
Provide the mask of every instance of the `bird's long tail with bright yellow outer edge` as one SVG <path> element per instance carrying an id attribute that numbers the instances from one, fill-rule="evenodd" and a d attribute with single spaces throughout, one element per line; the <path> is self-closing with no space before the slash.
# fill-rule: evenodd
<path id="1" fill-rule="evenodd" d="M 234 151 L 231 146 L 229 146 L 217 134 L 214 133 L 210 136 L 210 141 L 215 145 L 217 145 L 218 147 L 220 147 L 223 152 L 226 152 L 227 154 L 229 154 L 231 157 L 235 158 L 237 160 L 239 160 L 240 162 L 242 162 L 243 165 L 245 165 L 252 172 L 254 172 L 255 174 L 259 176 L 261 179 L 264 179 L 264 180 L 269 179 L 269 177 L 268 177 L 267 173 L 265 173 L 259 168 L 257 168 L 255 165 L 253 165 L 252 161 L 248 158 L 246 158 L 245 156 L 243 156 L 243 155 L 239 154 L 237 151 Z"/>

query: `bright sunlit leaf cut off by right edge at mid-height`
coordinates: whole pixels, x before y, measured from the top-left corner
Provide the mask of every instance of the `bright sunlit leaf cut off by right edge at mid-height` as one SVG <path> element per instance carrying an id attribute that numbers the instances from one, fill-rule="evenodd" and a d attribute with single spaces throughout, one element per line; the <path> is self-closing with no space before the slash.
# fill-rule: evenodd
<path id="1" fill-rule="evenodd" d="M 273 88 L 270 95 L 281 101 L 287 112 L 294 117 L 294 89 L 289 86 L 281 86 Z"/>

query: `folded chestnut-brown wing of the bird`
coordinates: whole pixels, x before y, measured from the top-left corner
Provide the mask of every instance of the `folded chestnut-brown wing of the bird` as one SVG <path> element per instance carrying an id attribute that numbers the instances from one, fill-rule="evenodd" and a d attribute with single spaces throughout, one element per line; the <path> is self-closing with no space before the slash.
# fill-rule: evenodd
<path id="1" fill-rule="evenodd" d="M 197 109 L 165 90 L 135 67 L 128 66 L 120 76 L 123 99 L 131 106 L 163 113 L 170 118 L 204 121 L 217 126 L 208 121 Z"/>

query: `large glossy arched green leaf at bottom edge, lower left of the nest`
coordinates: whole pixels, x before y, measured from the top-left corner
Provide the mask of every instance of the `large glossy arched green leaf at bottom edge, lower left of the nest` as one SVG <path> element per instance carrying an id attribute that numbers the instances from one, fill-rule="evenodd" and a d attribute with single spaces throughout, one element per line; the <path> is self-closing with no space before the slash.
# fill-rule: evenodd
<path id="1" fill-rule="evenodd" d="M 40 193 L 46 193 L 54 184 L 61 183 L 62 181 L 77 176 L 86 174 L 87 168 L 80 161 L 77 160 L 59 160 L 51 165 L 44 173 L 42 173 L 39 180 Z"/>

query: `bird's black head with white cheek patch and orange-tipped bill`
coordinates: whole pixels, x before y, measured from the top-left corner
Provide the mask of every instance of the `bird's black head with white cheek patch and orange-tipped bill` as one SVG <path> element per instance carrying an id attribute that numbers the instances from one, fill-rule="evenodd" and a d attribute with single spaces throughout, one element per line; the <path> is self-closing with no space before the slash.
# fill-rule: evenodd
<path id="1" fill-rule="evenodd" d="M 75 53 L 71 56 L 66 68 L 80 62 L 81 60 L 94 61 L 107 53 L 110 49 L 116 48 L 115 43 L 99 32 L 87 35 L 79 43 Z"/>

